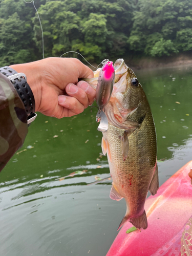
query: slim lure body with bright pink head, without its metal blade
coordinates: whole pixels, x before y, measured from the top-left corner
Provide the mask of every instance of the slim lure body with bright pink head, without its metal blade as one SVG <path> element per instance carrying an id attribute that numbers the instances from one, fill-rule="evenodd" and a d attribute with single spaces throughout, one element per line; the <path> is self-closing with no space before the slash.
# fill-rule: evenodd
<path id="1" fill-rule="evenodd" d="M 96 102 L 99 110 L 102 110 L 108 104 L 113 91 L 115 80 L 115 69 L 112 61 L 104 63 L 100 70 L 97 89 L 96 89 Z"/>

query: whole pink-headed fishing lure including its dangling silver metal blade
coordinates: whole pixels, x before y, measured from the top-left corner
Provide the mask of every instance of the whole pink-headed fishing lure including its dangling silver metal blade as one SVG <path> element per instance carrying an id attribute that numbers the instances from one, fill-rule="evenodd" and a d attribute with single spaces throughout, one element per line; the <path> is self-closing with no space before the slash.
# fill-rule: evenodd
<path id="1" fill-rule="evenodd" d="M 99 108 L 96 115 L 96 121 L 100 122 L 97 130 L 100 132 L 106 132 L 108 130 L 108 118 L 104 114 L 103 109 L 111 98 L 115 81 L 115 69 L 113 62 L 109 61 L 109 59 L 103 60 L 101 64 L 103 66 L 99 73 L 96 88 L 96 102 Z"/>

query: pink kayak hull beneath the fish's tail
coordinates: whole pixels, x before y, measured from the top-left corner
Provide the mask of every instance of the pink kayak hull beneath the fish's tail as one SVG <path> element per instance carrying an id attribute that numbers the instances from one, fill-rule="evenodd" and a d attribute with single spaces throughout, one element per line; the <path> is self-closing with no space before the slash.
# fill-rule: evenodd
<path id="1" fill-rule="evenodd" d="M 155 196 L 146 200 L 147 229 L 126 233 L 127 229 L 133 227 L 130 222 L 126 222 L 106 256 L 188 255 L 181 254 L 180 249 L 181 245 L 184 246 L 182 234 L 186 227 L 192 225 L 192 185 L 188 175 L 190 168 L 192 161 L 170 177 Z M 191 233 L 189 240 L 192 243 Z M 183 242 L 186 244 L 186 241 Z M 189 255 L 192 255 L 192 251 Z"/>

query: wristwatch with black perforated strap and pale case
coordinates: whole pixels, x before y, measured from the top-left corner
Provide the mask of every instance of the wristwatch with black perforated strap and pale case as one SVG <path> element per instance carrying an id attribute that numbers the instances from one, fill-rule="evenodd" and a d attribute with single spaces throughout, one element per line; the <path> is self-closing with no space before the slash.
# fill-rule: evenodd
<path id="1" fill-rule="evenodd" d="M 26 75 L 24 73 L 17 73 L 8 66 L 0 68 L 0 72 L 9 78 L 20 99 L 23 101 L 27 113 L 27 124 L 30 124 L 35 120 L 37 114 L 35 113 L 35 99 L 27 83 Z"/>

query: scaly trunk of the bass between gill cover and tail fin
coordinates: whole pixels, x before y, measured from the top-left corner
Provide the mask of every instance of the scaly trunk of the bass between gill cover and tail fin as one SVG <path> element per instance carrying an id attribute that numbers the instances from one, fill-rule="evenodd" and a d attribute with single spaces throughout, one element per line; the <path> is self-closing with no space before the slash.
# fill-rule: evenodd
<path id="1" fill-rule="evenodd" d="M 153 125 L 150 127 L 145 120 L 142 129 L 136 130 L 128 137 L 129 152 L 125 161 L 120 141 L 124 130 L 109 124 L 108 131 L 103 133 L 103 138 L 108 145 L 106 152 L 113 184 L 120 196 L 125 198 L 126 215 L 130 218 L 143 213 L 148 188 L 156 166 L 157 147 Z"/>

